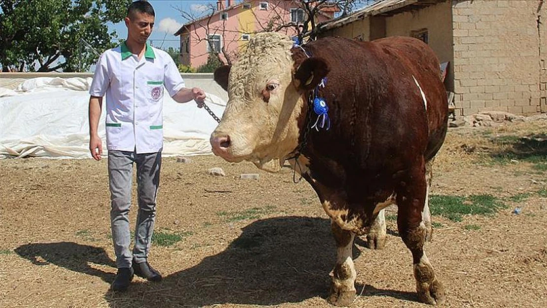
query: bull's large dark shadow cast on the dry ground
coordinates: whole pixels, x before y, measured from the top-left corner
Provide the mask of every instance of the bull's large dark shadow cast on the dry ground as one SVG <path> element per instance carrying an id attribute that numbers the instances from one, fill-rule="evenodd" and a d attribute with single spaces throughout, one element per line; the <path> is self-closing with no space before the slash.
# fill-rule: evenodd
<path id="1" fill-rule="evenodd" d="M 168 275 L 159 284 L 133 284 L 129 294 L 107 294 L 106 299 L 112 307 L 125 303 L 127 307 L 201 307 L 277 305 L 327 298 L 329 272 L 336 260 L 328 219 L 269 218 L 251 223 L 242 231 L 225 251 Z M 363 245 L 359 241 L 358 245 Z M 357 258 L 359 249 L 353 252 L 353 258 Z M 412 293 L 369 286 L 365 290 L 368 295 L 383 293 L 410 300 L 415 297 Z M 127 301 L 127 295 L 132 301 Z"/>

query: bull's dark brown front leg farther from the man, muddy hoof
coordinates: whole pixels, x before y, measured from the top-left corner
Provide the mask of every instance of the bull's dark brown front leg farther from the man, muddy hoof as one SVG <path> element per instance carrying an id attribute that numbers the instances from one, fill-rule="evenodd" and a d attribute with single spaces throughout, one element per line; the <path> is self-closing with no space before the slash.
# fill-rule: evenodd
<path id="1" fill-rule="evenodd" d="M 443 284 L 435 277 L 433 266 L 423 251 L 426 225 L 422 222 L 422 211 L 427 190 L 424 163 L 416 166 L 413 173 L 400 183 L 397 194 L 399 234 L 412 253 L 414 277 L 418 299 L 426 304 L 440 304 L 445 299 Z"/>

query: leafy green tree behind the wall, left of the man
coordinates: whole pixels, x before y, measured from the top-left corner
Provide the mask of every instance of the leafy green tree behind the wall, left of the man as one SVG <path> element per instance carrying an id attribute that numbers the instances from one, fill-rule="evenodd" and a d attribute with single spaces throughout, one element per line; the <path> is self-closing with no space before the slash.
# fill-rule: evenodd
<path id="1" fill-rule="evenodd" d="M 125 18 L 131 0 L 1 0 L 0 65 L 3 71 L 74 72 L 88 69 L 99 52 L 114 47 L 107 22 Z"/>

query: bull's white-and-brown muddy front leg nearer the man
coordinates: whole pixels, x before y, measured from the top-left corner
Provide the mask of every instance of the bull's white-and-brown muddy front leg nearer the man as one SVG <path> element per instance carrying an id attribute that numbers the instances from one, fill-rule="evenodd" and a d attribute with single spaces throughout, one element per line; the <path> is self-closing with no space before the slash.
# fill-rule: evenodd
<path id="1" fill-rule="evenodd" d="M 336 265 L 333 269 L 333 282 L 329 302 L 336 306 L 347 306 L 355 298 L 355 278 L 357 272 L 353 266 L 352 248 L 354 234 L 342 230 L 335 222 L 330 223 L 336 240 Z"/>

